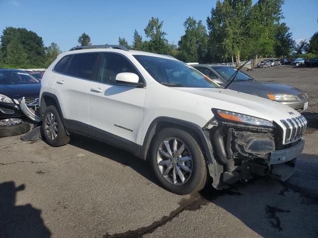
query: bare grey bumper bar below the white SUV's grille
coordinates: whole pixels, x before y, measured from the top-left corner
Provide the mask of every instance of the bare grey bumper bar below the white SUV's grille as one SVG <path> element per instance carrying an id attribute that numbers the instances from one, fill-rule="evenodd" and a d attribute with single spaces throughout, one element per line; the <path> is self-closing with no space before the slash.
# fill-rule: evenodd
<path id="1" fill-rule="evenodd" d="M 297 158 L 303 151 L 305 140 L 301 139 L 297 145 L 284 150 L 273 151 L 270 155 L 269 164 L 281 164 Z"/>

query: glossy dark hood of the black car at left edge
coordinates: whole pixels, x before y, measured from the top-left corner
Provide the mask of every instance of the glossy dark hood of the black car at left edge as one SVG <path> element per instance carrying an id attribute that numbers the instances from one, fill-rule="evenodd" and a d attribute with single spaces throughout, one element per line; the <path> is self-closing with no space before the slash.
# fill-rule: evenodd
<path id="1" fill-rule="evenodd" d="M 0 84 L 0 94 L 10 98 L 39 97 L 41 83 Z"/>

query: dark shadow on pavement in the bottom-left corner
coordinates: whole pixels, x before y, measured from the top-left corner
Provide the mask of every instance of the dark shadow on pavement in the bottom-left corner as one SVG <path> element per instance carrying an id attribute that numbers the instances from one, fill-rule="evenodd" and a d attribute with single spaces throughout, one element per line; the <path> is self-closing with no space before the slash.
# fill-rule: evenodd
<path id="1" fill-rule="evenodd" d="M 24 184 L 16 187 L 13 181 L 0 183 L 0 237 L 51 237 L 41 218 L 41 210 L 31 204 L 15 206 L 16 193 L 24 189 Z"/>

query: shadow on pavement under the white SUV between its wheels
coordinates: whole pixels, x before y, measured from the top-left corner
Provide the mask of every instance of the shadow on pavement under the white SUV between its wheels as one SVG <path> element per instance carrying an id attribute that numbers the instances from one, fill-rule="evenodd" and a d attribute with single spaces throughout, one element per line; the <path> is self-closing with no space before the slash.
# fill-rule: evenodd
<path id="1" fill-rule="evenodd" d="M 75 136 L 71 135 L 71 141 L 69 144 L 80 149 L 87 150 L 91 153 L 103 156 L 105 159 L 110 159 L 124 166 L 129 166 L 141 176 L 159 185 L 159 182 L 152 172 L 149 163 L 137 158 L 133 154 L 123 149 L 78 134 Z"/>

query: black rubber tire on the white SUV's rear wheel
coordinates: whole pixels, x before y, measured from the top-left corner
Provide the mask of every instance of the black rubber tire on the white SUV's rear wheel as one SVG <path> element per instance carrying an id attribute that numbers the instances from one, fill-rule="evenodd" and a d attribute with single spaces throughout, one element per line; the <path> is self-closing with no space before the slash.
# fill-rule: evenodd
<path id="1" fill-rule="evenodd" d="M 56 125 L 54 128 L 57 129 L 57 131 L 55 130 L 54 132 L 56 135 L 54 139 L 52 139 L 47 132 L 48 115 L 54 115 L 54 122 L 56 122 Z M 51 146 L 54 146 L 54 147 L 63 146 L 69 143 L 70 141 L 70 136 L 66 133 L 60 114 L 53 105 L 47 107 L 47 109 L 45 110 L 43 114 L 42 131 L 43 131 L 45 140 Z"/>

